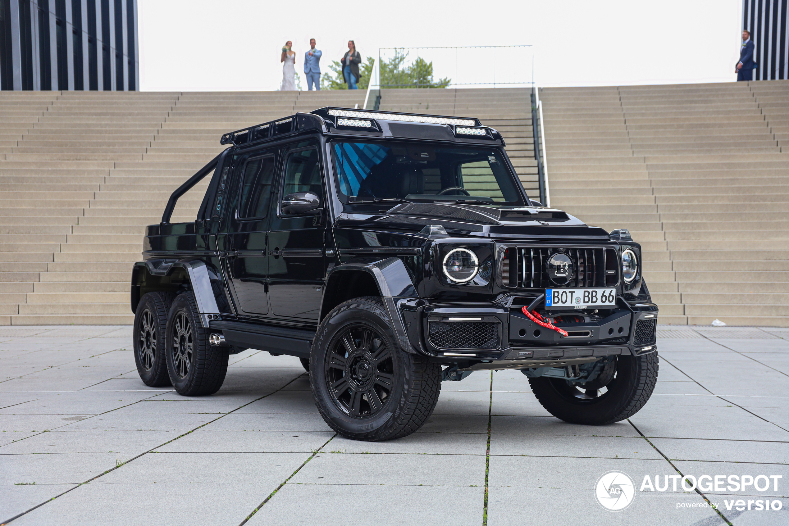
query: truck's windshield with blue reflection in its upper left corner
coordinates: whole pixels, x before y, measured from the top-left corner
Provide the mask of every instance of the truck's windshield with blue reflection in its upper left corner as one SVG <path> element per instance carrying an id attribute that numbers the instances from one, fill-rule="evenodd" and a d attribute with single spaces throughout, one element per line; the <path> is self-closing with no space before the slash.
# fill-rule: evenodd
<path id="1" fill-rule="evenodd" d="M 522 192 L 494 148 L 391 142 L 332 143 L 342 203 L 379 200 L 522 205 Z"/>

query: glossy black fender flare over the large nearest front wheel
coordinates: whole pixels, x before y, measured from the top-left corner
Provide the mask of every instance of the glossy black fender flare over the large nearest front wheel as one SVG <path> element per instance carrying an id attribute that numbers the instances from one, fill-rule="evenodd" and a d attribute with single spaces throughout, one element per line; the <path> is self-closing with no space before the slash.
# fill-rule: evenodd
<path id="1" fill-rule="evenodd" d="M 416 354 L 416 349 L 408 339 L 406 324 L 400 315 L 398 304 L 401 301 L 418 297 L 417 288 L 413 285 L 411 274 L 409 274 L 406 264 L 402 259 L 388 257 L 383 259 L 365 259 L 342 263 L 329 269 L 326 275 L 326 286 L 323 288 L 325 298 L 327 290 L 332 282 L 333 276 L 338 276 L 344 271 L 361 271 L 372 276 L 373 281 L 378 286 L 383 305 L 387 310 L 389 319 L 392 320 L 392 328 L 397 336 L 401 349 L 407 353 Z M 323 299 L 320 302 L 320 318 L 323 319 L 327 312 L 324 312 Z"/>

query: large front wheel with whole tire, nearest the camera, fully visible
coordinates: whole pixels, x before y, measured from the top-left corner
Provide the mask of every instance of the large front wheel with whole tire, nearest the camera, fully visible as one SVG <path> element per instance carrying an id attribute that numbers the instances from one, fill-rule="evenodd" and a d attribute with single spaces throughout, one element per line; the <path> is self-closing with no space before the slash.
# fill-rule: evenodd
<path id="1" fill-rule="evenodd" d="M 417 431 L 436 408 L 441 367 L 398 345 L 380 298 L 335 307 L 310 353 L 312 397 L 323 420 L 355 440 L 391 440 Z"/>

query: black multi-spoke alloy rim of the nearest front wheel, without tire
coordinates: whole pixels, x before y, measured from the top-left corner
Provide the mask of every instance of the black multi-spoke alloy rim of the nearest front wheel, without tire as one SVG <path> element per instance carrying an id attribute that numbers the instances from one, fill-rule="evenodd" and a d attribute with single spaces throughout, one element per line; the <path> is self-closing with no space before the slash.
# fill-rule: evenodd
<path id="1" fill-rule="evenodd" d="M 386 341 L 366 323 L 346 326 L 329 344 L 326 382 L 335 404 L 354 418 L 380 412 L 391 395 L 394 365 Z"/>

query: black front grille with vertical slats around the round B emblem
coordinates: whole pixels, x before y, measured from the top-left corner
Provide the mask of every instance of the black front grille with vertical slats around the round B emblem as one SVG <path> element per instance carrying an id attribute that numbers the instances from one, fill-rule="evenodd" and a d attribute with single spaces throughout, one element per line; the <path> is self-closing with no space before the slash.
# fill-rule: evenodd
<path id="1" fill-rule="evenodd" d="M 563 252 L 573 260 L 573 278 L 565 287 L 605 286 L 603 248 L 529 248 L 511 247 L 504 253 L 502 282 L 517 289 L 545 289 L 548 281 L 548 258 Z"/>

